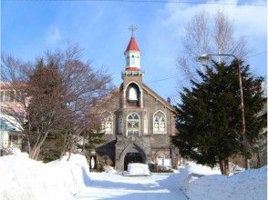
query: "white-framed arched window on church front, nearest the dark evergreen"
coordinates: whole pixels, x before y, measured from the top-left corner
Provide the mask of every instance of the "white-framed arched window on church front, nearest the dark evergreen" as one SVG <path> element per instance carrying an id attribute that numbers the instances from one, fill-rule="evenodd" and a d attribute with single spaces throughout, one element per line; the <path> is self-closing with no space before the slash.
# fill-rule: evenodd
<path id="1" fill-rule="evenodd" d="M 158 111 L 153 115 L 153 133 L 154 134 L 167 133 L 166 115 L 161 111 Z"/>

